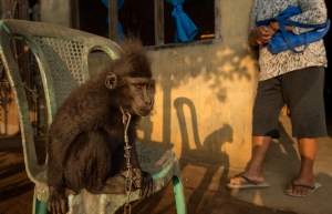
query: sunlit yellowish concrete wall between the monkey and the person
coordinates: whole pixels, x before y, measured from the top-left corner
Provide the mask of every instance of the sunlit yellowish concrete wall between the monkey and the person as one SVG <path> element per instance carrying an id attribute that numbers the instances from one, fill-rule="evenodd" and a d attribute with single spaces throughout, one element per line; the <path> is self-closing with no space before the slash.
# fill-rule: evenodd
<path id="1" fill-rule="evenodd" d="M 144 144 L 172 149 L 179 159 L 243 167 L 250 157 L 258 71 L 247 40 L 252 0 L 219 3 L 221 42 L 148 50 L 157 83 L 155 108 L 139 123 L 138 135 Z M 92 75 L 106 61 L 92 54 Z"/>

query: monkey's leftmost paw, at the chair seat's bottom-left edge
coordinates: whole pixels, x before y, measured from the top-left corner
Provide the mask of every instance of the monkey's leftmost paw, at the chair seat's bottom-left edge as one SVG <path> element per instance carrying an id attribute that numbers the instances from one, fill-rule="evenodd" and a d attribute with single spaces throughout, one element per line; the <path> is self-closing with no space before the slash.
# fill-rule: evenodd
<path id="1" fill-rule="evenodd" d="M 48 200 L 48 210 L 52 214 L 65 214 L 66 213 L 66 198 L 70 194 L 76 193 L 70 188 L 56 190 L 50 186 L 50 196 Z"/>

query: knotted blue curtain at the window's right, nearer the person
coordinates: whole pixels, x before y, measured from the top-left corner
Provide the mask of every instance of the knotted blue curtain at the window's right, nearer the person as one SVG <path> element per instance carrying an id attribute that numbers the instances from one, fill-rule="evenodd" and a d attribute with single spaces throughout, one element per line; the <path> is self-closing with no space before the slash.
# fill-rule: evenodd
<path id="1" fill-rule="evenodd" d="M 183 3 L 185 0 L 167 0 L 168 3 L 174 6 L 172 11 L 173 22 L 176 26 L 175 43 L 190 42 L 194 40 L 198 32 L 197 27 L 190 18 L 184 12 Z"/>

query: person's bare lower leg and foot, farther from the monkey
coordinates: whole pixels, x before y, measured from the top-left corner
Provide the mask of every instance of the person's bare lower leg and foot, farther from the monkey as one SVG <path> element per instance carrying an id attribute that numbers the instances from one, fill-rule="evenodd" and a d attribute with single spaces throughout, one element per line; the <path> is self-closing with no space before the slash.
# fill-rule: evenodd
<path id="1" fill-rule="evenodd" d="M 318 150 L 318 139 L 298 139 L 299 153 L 301 156 L 301 167 L 298 177 L 293 181 L 294 188 L 289 184 L 287 192 L 294 195 L 308 195 L 311 190 L 297 184 L 314 186 L 313 163 Z"/>

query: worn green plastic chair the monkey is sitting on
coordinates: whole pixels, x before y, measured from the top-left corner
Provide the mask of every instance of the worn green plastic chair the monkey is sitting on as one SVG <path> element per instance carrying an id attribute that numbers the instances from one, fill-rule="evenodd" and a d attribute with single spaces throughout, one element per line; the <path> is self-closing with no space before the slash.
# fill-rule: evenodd
<path id="1" fill-rule="evenodd" d="M 89 53 L 93 50 L 103 50 L 115 59 L 117 55 L 114 50 L 117 44 L 98 35 L 50 23 L 13 19 L 0 21 L 0 58 L 18 105 L 25 170 L 29 179 L 35 184 L 32 213 L 48 213 L 49 190 L 45 173 L 48 163 L 39 165 L 37 161 L 24 85 L 11 52 L 12 39 L 23 40 L 35 55 L 45 93 L 49 125 L 56 108 L 69 93 L 89 80 Z M 175 154 L 172 151 L 142 144 L 137 145 L 137 152 L 142 169 L 153 175 L 156 191 L 162 190 L 173 180 L 177 213 L 185 214 L 184 186 L 180 166 Z M 139 191 L 132 192 L 131 201 L 138 198 Z M 69 213 L 72 214 L 106 214 L 114 213 L 124 205 L 127 202 L 127 195 L 95 195 L 82 190 L 77 195 L 70 195 L 68 202 Z"/>

